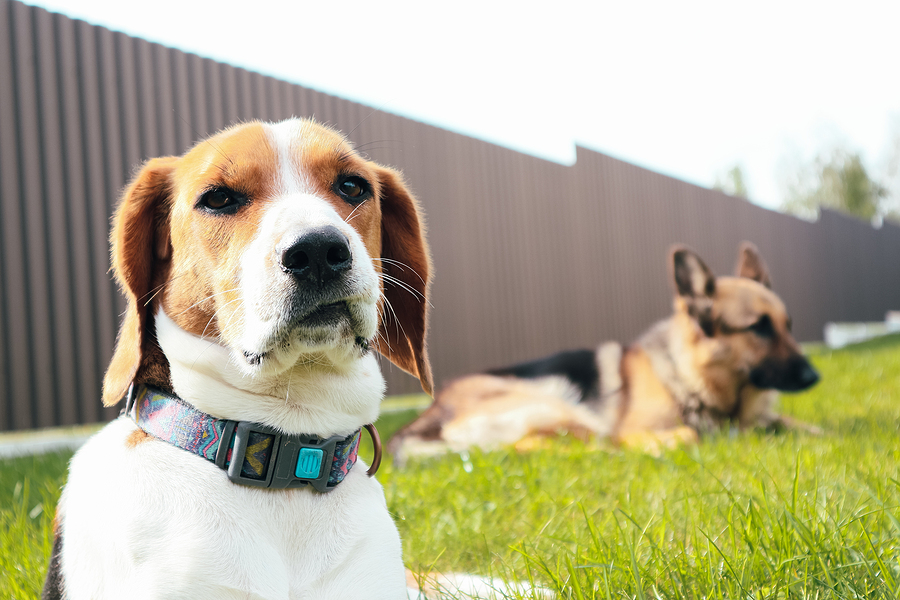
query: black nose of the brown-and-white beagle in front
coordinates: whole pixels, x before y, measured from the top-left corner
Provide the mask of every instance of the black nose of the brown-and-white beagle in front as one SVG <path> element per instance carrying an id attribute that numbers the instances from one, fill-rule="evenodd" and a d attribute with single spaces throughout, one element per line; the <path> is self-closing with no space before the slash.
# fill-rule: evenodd
<path id="1" fill-rule="evenodd" d="M 304 233 L 281 254 L 281 268 L 286 273 L 311 283 L 331 281 L 352 264 L 350 242 L 330 225 Z"/>

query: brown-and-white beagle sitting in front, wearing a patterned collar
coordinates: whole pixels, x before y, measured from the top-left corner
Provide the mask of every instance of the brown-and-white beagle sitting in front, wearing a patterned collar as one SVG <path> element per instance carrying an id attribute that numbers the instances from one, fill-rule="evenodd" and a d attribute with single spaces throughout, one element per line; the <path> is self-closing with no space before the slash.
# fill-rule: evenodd
<path id="1" fill-rule="evenodd" d="M 432 388 L 400 174 L 310 120 L 244 123 L 147 162 L 111 244 L 127 309 L 103 403 L 126 404 L 72 459 L 43 597 L 406 598 L 354 466 L 374 351 Z"/>

